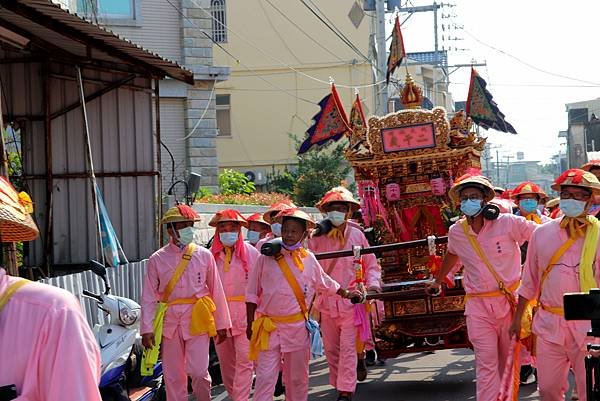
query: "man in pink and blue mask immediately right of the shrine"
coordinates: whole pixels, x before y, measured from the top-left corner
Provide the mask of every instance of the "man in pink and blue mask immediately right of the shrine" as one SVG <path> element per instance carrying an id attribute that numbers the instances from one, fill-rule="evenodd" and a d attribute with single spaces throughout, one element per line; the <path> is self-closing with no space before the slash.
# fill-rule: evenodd
<path id="1" fill-rule="evenodd" d="M 494 197 L 494 190 L 483 176 L 461 177 L 450 189 L 449 196 L 460 204 L 466 217 L 450 227 L 448 251 L 430 289 L 438 290 L 460 259 L 467 293 L 467 331 L 475 351 L 477 401 L 496 401 L 509 354 L 508 327 L 514 306 L 511 302 L 514 303 L 521 278 L 519 244 L 529 239 L 537 225 L 508 213 L 501 213 L 495 220 L 484 218 L 484 206 Z M 499 283 L 468 236 L 479 244 L 506 293 L 500 291 Z"/>

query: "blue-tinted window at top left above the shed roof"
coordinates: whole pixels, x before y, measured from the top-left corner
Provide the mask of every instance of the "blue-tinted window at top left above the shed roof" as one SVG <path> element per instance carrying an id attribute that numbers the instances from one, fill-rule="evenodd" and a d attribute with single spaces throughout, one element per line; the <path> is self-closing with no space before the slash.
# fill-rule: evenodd
<path id="1" fill-rule="evenodd" d="M 140 19 L 140 0 L 77 0 L 77 12 L 93 22 L 109 25 L 135 22 Z"/>

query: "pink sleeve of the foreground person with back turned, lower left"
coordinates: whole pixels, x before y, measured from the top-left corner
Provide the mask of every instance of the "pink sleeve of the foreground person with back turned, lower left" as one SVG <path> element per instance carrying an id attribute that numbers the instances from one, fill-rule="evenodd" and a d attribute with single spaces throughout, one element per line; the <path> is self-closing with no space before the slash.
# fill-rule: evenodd
<path id="1" fill-rule="evenodd" d="M 39 365 L 28 369 L 41 399 L 101 401 L 100 352 L 77 301 L 49 313 L 43 327 Z"/>

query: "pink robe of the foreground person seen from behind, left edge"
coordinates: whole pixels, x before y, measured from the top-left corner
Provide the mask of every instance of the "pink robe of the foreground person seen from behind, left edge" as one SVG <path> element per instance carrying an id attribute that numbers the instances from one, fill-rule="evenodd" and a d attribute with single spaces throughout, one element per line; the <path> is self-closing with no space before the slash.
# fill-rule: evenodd
<path id="1" fill-rule="evenodd" d="M 0 269 L 0 294 L 18 280 Z M 100 351 L 77 299 L 46 284 L 21 287 L 0 311 L 0 386 L 20 401 L 100 401 Z"/>

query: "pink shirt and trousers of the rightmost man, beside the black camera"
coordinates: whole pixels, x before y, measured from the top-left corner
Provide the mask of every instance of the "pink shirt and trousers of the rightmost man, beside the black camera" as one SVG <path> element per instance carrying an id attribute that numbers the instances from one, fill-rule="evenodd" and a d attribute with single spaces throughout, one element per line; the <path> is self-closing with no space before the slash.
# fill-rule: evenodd
<path id="1" fill-rule="evenodd" d="M 540 226 L 529 241 L 527 260 L 523 268 L 523 281 L 519 295 L 532 300 L 537 298 L 541 276 L 556 250 L 568 240 L 567 231 L 560 228 L 560 219 Z M 542 289 L 540 302 L 549 307 L 562 307 L 563 294 L 579 292 L 579 261 L 583 238 L 578 239 L 552 268 Z M 597 268 L 600 249 L 596 251 L 595 277 L 599 282 Z M 567 375 L 572 365 L 575 373 L 579 399 L 585 401 L 586 336 L 589 321 L 566 321 L 562 316 L 538 308 L 533 319 L 533 332 L 537 337 L 538 386 L 544 401 L 563 400 L 569 388 Z M 561 398 L 562 397 L 562 398 Z"/>

